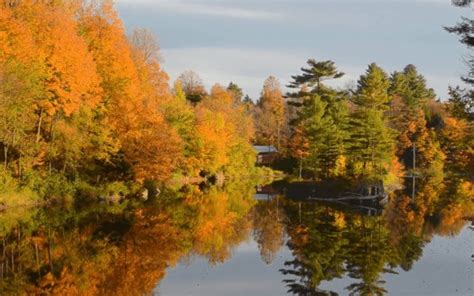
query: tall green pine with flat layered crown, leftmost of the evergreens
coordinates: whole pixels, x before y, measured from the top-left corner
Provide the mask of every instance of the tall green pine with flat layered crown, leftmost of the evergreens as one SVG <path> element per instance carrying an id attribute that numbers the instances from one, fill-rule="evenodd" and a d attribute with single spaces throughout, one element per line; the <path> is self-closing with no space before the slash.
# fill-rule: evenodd
<path id="1" fill-rule="evenodd" d="M 298 89 L 287 95 L 289 105 L 296 109 L 292 123 L 303 127 L 303 135 L 307 137 L 310 156 L 305 163 L 308 169 L 315 177 L 320 173 L 329 176 L 344 157 L 349 109 L 346 94 L 323 82 L 340 78 L 344 73 L 339 72 L 332 61 L 310 59 L 307 63 L 309 67 L 302 68 L 301 75 L 292 76 L 293 81 L 288 85 Z"/>

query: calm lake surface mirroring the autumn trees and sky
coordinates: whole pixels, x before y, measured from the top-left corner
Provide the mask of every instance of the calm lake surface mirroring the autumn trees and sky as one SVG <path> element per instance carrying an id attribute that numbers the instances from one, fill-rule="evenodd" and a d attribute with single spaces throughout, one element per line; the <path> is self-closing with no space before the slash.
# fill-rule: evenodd
<path id="1" fill-rule="evenodd" d="M 474 295 L 472 184 L 406 187 L 384 206 L 229 184 L 0 213 L 0 295 Z"/>

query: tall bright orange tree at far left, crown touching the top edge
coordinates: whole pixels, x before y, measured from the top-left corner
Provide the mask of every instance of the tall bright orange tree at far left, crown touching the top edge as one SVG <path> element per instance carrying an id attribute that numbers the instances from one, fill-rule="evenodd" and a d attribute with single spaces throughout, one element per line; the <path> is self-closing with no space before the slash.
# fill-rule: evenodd
<path id="1" fill-rule="evenodd" d="M 90 125 L 77 125 L 78 118 L 94 121 L 101 88 L 93 56 L 79 34 L 75 6 L 24 1 L 1 9 L 2 14 L 9 15 L 6 24 L 11 37 L 5 43 L 8 49 L 4 58 L 17 59 L 30 67 L 26 76 L 39 77 L 42 88 L 41 95 L 31 97 L 36 123 L 35 136 L 30 137 L 35 139 L 36 155 L 29 162 L 47 164 L 50 171 L 76 171 L 79 159 L 100 157 L 106 146 L 94 145 L 99 129 L 91 132 Z M 18 30 L 22 31 L 21 37 Z M 64 150 L 69 151 L 62 153 Z"/>

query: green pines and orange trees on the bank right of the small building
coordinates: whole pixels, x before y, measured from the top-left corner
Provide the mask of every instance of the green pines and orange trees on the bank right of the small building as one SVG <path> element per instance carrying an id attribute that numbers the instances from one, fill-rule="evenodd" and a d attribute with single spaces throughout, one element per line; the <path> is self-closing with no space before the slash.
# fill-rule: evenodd
<path id="1" fill-rule="evenodd" d="M 429 174 L 444 165 L 472 173 L 473 113 L 457 90 L 441 101 L 414 65 L 389 75 L 375 63 L 356 87 L 336 89 L 327 81 L 344 73 L 333 61 L 307 64 L 293 91 L 275 90 L 271 77 L 253 106 L 257 142 L 279 148 L 300 178 Z"/>

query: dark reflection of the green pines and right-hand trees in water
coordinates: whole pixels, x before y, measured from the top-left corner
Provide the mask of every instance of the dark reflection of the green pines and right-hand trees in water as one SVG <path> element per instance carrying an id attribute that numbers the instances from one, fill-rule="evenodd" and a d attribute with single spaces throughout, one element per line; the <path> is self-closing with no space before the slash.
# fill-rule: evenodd
<path id="1" fill-rule="evenodd" d="M 474 213 L 472 196 L 469 182 L 424 179 L 414 199 L 408 192 L 392 193 L 378 216 L 288 201 L 287 245 L 294 259 L 281 269 L 288 293 L 337 295 L 318 287 L 348 276 L 355 280 L 346 287 L 350 295 L 385 295 L 383 274 L 410 270 L 434 234 L 459 233 Z"/>

